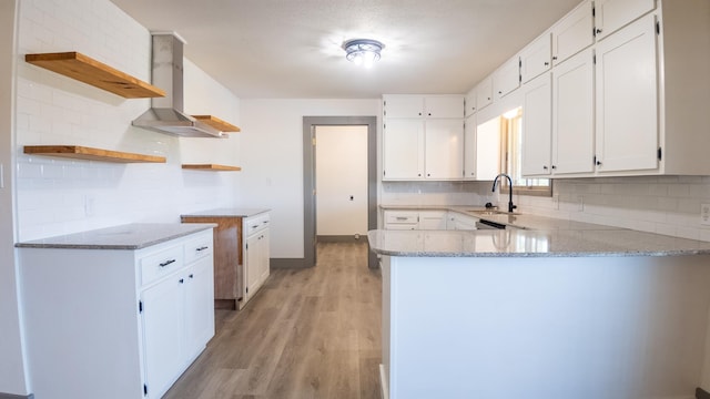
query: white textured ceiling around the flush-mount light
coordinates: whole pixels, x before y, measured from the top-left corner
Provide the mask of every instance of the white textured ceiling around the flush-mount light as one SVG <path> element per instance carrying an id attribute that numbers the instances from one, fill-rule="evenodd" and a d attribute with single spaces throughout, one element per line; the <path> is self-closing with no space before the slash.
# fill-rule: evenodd
<path id="1" fill-rule="evenodd" d="M 241 99 L 465 93 L 580 0 L 112 0 Z M 342 43 L 385 44 L 372 69 Z"/>

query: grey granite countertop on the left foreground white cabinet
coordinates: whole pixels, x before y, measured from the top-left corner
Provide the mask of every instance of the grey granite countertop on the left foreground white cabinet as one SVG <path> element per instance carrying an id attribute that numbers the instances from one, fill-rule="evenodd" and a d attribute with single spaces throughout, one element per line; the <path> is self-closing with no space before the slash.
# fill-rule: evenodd
<path id="1" fill-rule="evenodd" d="M 214 228 L 212 223 L 128 224 L 18 243 L 18 248 L 141 249 Z"/>

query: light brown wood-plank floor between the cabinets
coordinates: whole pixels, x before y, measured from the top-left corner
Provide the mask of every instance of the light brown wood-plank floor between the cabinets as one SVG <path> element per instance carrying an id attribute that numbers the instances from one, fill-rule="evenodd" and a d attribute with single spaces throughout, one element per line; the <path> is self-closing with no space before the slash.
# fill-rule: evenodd
<path id="1" fill-rule="evenodd" d="M 382 277 L 365 243 L 318 244 L 317 265 L 275 269 L 164 398 L 379 399 Z"/>

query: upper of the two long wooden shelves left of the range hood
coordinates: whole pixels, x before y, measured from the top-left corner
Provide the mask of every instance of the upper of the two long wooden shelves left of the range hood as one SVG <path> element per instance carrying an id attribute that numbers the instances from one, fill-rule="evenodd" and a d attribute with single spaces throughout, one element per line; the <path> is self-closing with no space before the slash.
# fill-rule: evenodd
<path id="1" fill-rule="evenodd" d="M 125 99 L 165 96 L 165 92 L 162 89 L 75 51 L 26 54 L 24 61 Z"/>

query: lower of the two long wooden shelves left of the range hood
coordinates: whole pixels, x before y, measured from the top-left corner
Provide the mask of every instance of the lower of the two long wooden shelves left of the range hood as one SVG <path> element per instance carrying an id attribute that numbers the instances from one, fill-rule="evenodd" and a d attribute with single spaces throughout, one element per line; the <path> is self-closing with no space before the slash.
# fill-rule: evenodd
<path id="1" fill-rule="evenodd" d="M 165 163 L 164 156 L 91 149 L 79 145 L 26 145 L 24 153 L 115 163 Z"/>

